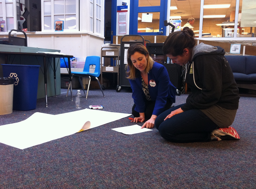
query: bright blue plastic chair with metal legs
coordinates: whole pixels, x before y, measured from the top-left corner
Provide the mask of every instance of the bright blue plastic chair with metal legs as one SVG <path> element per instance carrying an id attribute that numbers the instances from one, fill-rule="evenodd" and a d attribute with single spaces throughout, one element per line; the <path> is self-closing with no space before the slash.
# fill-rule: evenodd
<path id="1" fill-rule="evenodd" d="M 90 73 L 90 66 L 91 66 L 91 69 L 95 68 L 95 71 L 93 73 Z M 90 84 L 91 84 L 91 78 L 97 80 L 98 85 L 100 86 L 101 92 L 103 94 L 103 97 L 105 97 L 102 87 L 101 87 L 101 84 L 100 84 L 100 81 L 98 80 L 98 76 L 100 76 L 100 67 L 101 67 L 100 56 L 87 56 L 86 60 L 85 60 L 84 70 L 82 72 L 71 71 L 71 74 L 73 74 L 72 77 L 79 76 L 79 82 L 84 91 L 84 94 L 85 94 L 85 90 L 84 90 L 84 86 L 82 84 L 82 77 L 89 77 L 86 100 L 87 100 L 87 96 L 88 96 L 88 92 L 89 92 L 89 88 L 90 88 Z"/>

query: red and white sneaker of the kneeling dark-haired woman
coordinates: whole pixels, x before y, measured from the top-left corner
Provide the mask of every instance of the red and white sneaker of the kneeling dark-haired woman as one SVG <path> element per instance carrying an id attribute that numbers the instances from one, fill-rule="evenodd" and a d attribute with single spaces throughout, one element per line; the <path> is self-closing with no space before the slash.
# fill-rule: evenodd
<path id="1" fill-rule="evenodd" d="M 218 141 L 220 140 L 237 140 L 240 139 L 239 134 L 233 127 L 228 128 L 219 128 L 212 131 L 212 135 L 217 138 Z"/>

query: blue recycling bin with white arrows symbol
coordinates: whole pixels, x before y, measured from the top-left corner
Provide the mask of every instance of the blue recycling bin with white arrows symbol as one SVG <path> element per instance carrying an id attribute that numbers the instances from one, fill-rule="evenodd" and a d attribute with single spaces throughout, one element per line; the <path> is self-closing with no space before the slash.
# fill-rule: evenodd
<path id="1" fill-rule="evenodd" d="M 36 109 L 38 65 L 1 64 L 4 77 L 14 78 L 14 110 Z"/>

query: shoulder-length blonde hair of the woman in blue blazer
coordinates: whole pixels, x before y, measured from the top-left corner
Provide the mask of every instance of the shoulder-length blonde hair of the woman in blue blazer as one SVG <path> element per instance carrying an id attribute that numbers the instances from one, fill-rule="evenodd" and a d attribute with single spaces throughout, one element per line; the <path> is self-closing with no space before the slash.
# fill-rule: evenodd
<path id="1" fill-rule="evenodd" d="M 127 74 L 127 78 L 132 79 L 132 80 L 134 80 L 135 78 L 140 76 L 139 70 L 134 67 L 132 60 L 130 59 L 130 57 L 136 52 L 143 54 L 147 57 L 147 59 L 146 59 L 147 65 L 146 65 L 146 69 L 145 69 L 145 71 L 147 73 L 149 73 L 149 71 L 152 69 L 153 64 L 154 64 L 154 60 L 149 56 L 149 52 L 143 44 L 136 43 L 136 44 L 130 46 L 127 51 L 128 64 L 126 65 L 126 74 Z"/>

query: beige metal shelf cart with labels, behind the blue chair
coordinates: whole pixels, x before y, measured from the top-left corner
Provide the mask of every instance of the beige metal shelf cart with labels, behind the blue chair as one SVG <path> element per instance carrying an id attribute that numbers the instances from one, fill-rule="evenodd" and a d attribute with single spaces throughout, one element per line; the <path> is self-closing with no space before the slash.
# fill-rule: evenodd
<path id="1" fill-rule="evenodd" d="M 120 45 L 119 44 L 109 44 L 102 45 L 101 47 L 101 87 L 105 90 L 103 85 L 102 72 L 112 72 L 117 73 L 117 85 L 119 85 L 119 57 L 120 57 Z M 112 58 L 113 66 L 105 66 L 102 64 L 102 58 Z"/>

